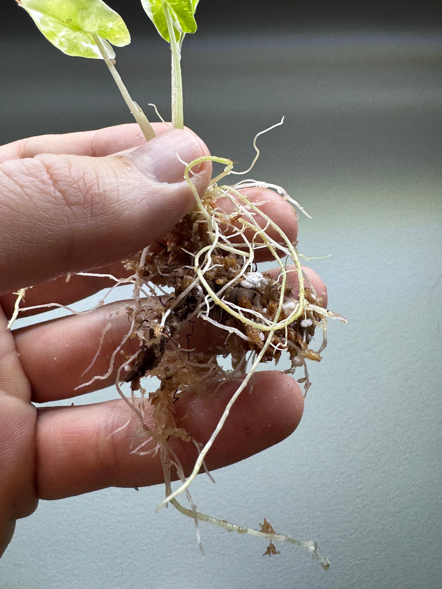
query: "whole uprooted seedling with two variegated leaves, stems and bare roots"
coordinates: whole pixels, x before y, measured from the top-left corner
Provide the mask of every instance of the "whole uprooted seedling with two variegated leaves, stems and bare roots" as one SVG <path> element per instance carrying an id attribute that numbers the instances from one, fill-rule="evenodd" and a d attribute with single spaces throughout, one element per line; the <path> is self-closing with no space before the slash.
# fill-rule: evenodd
<path id="1" fill-rule="evenodd" d="M 153 130 L 140 107 L 131 100 L 114 67 L 114 52 L 110 44 L 122 47 L 130 42 L 121 17 L 101 0 L 17 2 L 29 12 L 45 37 L 61 51 L 68 55 L 104 59 L 124 100 L 149 141 L 154 136 Z M 141 0 L 157 31 L 170 44 L 174 128 L 183 128 L 180 54 L 184 36 L 196 31 L 194 14 L 197 3 L 198 0 Z M 278 123 L 280 124 L 282 121 Z M 328 317 L 345 321 L 337 313 L 322 306 L 321 297 L 315 293 L 314 287 L 302 271 L 299 258 L 304 256 L 298 253 L 297 243 L 292 243 L 272 219 L 263 213 L 259 204 L 253 203 L 240 190 L 248 187 L 271 188 L 309 217 L 305 210 L 282 187 L 275 184 L 250 179 L 239 181 L 233 186 L 222 183 L 223 178 L 230 174 L 246 174 L 252 169 L 259 155 L 256 138 L 276 126 L 256 135 L 253 140 L 256 156 L 245 172 L 234 171 L 232 161 L 215 156 L 200 157 L 187 164 L 184 178 L 195 197 L 194 209 L 163 236 L 163 247 L 160 251 L 158 248 L 146 247 L 137 256 L 124 260 L 126 268 L 131 270 L 129 278 L 120 280 L 113 277 L 116 281 L 113 288 L 119 284 L 134 285 L 133 301 L 127 307 L 128 330 L 111 356 L 107 373 L 94 376 L 81 386 L 89 385 L 96 379 L 108 378 L 113 372 L 117 353 L 123 352 L 123 346 L 130 337 L 137 337 L 139 349 L 118 368 L 116 387 L 121 398 L 138 418 L 138 427 L 133 436 L 135 448 L 131 453 L 146 455 L 159 452 L 166 484 L 166 498 L 159 509 L 170 503 L 193 518 L 201 550 L 198 524 L 199 521 L 206 521 L 228 531 L 268 538 L 270 544 L 265 555 L 279 554 L 274 541 L 305 547 L 323 568 L 328 569 L 329 558 L 319 554 L 316 542 L 303 542 L 278 534 L 266 519 L 260 524 L 260 530 L 254 530 L 204 515 L 197 512 L 189 492 L 189 486 L 200 468 L 206 469 L 204 458 L 222 429 L 230 408 L 250 382 L 259 363 L 278 362 L 282 353 L 286 353 L 291 366 L 285 372 L 293 374 L 298 368 L 304 370 L 304 376 L 298 382 L 304 383 L 306 394 L 311 384 L 306 361 L 321 360 L 322 350 L 326 346 Z M 206 194 L 200 197 L 192 183 L 192 168 L 209 160 L 222 164 L 224 170 L 212 178 Z M 258 272 L 255 257 L 260 249 L 271 252 L 279 267 L 276 278 L 271 274 Z M 288 260 L 292 260 L 292 266 L 288 265 Z M 294 294 L 288 284 L 289 272 L 296 273 L 299 293 Z M 161 297 L 161 293 L 164 293 L 163 287 L 168 287 L 172 293 Z M 19 309 L 25 290 L 21 289 L 18 293 L 10 326 L 20 310 L 35 308 Z M 105 297 L 97 307 L 103 305 Z M 49 303 L 44 306 L 61 305 Z M 190 346 L 183 349 L 176 344 L 175 338 L 179 336 L 182 327 L 187 323 L 192 324 L 196 319 L 211 323 L 225 334 L 225 345 L 219 356 L 196 352 Z M 103 330 L 93 362 L 87 370 L 93 366 L 100 353 L 110 325 L 111 317 Z M 319 329 L 323 335 L 322 345 L 317 350 L 310 348 L 315 329 Z M 218 359 L 222 355 L 230 359 L 231 369 L 222 368 L 219 364 Z M 160 380 L 160 388 L 149 393 L 148 398 L 141 386 L 141 379 L 146 376 L 156 376 Z M 207 396 L 207 390 L 216 394 L 226 382 L 235 380 L 239 380 L 240 384 L 205 445 L 199 444 L 193 438 L 192 432 L 177 427 L 174 421 L 176 401 L 190 392 L 203 398 Z M 123 383 L 130 383 L 130 398 L 123 392 Z M 137 395 L 138 392 L 140 396 Z M 154 429 L 145 421 L 149 403 L 153 407 L 156 424 Z M 116 431 L 127 427 L 130 421 Z M 110 435 L 114 433 L 116 432 Z M 198 451 L 194 469 L 187 479 L 179 456 L 170 444 L 171 438 L 190 442 Z M 173 470 L 181 481 L 179 488 L 174 491 L 171 489 Z M 207 469 L 206 472 L 209 474 Z M 190 508 L 177 501 L 177 497 L 183 492 Z"/>

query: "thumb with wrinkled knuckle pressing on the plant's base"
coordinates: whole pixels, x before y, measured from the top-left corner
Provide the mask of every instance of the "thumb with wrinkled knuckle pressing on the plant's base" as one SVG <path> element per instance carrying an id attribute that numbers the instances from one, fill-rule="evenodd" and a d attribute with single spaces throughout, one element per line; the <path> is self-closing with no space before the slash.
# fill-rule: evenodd
<path id="1" fill-rule="evenodd" d="M 0 164 L 0 294 L 117 262 L 194 206 L 185 162 L 208 155 L 188 131 L 107 157 L 42 154 Z M 212 166 L 193 168 L 203 194 Z"/>

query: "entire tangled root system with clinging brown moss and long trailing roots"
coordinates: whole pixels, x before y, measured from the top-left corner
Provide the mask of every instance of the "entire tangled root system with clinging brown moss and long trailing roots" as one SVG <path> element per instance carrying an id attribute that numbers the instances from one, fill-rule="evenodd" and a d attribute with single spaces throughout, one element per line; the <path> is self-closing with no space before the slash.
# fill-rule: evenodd
<path id="1" fill-rule="evenodd" d="M 256 152 L 258 156 L 258 148 Z M 193 166 L 207 160 L 221 163 L 225 169 L 212 180 L 200 198 L 192 184 L 191 170 Z M 118 369 L 116 386 L 139 420 L 130 452 L 138 455 L 159 452 L 166 482 L 166 498 L 159 509 L 170 502 L 180 512 L 192 517 L 200 550 L 202 545 L 198 522 L 207 521 L 228 531 L 268 538 L 270 544 L 265 555 L 279 554 L 273 541 L 306 547 L 312 557 L 327 569 L 329 559 L 321 557 L 316 542 L 301 542 L 277 534 L 266 519 L 264 524 L 260 524 L 260 530 L 253 530 L 201 514 L 197 512 L 189 492 L 189 485 L 200 469 L 204 468 L 209 474 L 204 458 L 222 429 L 230 408 L 250 382 L 258 364 L 276 364 L 281 355 L 286 354 L 290 367 L 285 372 L 293 374 L 296 369 L 303 371 L 298 382 L 303 383 L 305 396 L 311 385 L 306 362 L 321 360 L 322 350 L 326 346 L 328 317 L 345 321 L 322 306 L 321 297 L 315 293 L 314 287 L 302 272 L 297 243 L 292 243 L 260 209 L 260 204 L 249 200 L 240 192 L 240 188 L 271 188 L 281 198 L 298 206 L 302 213 L 307 213 L 279 186 L 255 180 L 241 181 L 234 186 L 222 184 L 220 181 L 225 176 L 234 173 L 232 167 L 232 161 L 210 156 L 201 157 L 186 166 L 184 177 L 193 190 L 196 206 L 161 240 L 137 256 L 124 260 L 126 269 L 131 273 L 128 279 L 113 277 L 116 280 L 114 287 L 121 283 L 134 284 L 133 302 L 127 307 L 128 331 L 114 350 L 108 372 L 94 376 L 81 386 L 97 378 L 107 378 L 113 370 L 117 353 L 123 352 L 124 343 L 129 338 L 137 338 L 139 349 Z M 256 255 L 260 249 L 271 252 L 279 267 L 278 276 L 258 272 Z M 294 293 L 288 284 L 289 272 L 297 275 L 298 292 Z M 25 289 L 22 289 L 18 293 L 11 324 L 19 310 L 24 310 L 19 309 L 19 302 L 24 295 Z M 103 305 L 104 300 L 105 297 L 97 306 Z M 183 325 L 193 326 L 197 319 L 211 323 L 225 334 L 218 353 L 204 353 L 190 348 L 189 337 L 186 348 L 177 343 Z M 88 369 L 100 353 L 110 325 L 111 317 Z M 322 332 L 322 344 L 315 350 L 311 345 L 316 329 Z M 225 368 L 226 358 L 230 359 L 229 369 Z M 219 362 L 220 359 L 223 362 Z M 146 376 L 156 376 L 160 381 L 159 388 L 149 395 L 141 385 L 141 380 Z M 239 386 L 227 403 L 212 436 L 203 446 L 193 438 L 192 432 L 176 425 L 174 403 L 189 391 L 203 398 L 207 398 L 207 391 L 216 395 L 223 383 L 232 379 L 238 380 Z M 130 383 L 130 398 L 121 389 L 123 382 Z M 146 403 L 153 408 L 154 428 L 150 428 L 145 420 Z M 118 431 L 129 423 L 130 420 Z M 173 438 L 196 446 L 198 458 L 187 479 L 179 456 L 171 447 Z M 154 448 L 146 450 L 145 446 L 150 442 L 155 443 Z M 171 479 L 174 476 L 180 479 L 181 485 L 172 491 Z M 183 507 L 176 499 L 182 492 L 186 493 L 190 509 Z"/>

